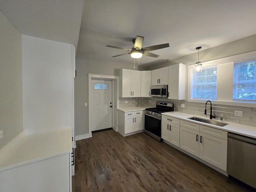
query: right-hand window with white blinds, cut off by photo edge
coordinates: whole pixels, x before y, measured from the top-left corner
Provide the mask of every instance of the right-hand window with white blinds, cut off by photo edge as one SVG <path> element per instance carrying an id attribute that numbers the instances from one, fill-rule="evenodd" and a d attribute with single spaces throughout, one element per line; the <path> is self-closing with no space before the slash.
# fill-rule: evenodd
<path id="1" fill-rule="evenodd" d="M 233 100 L 256 100 L 256 60 L 234 63 Z"/>

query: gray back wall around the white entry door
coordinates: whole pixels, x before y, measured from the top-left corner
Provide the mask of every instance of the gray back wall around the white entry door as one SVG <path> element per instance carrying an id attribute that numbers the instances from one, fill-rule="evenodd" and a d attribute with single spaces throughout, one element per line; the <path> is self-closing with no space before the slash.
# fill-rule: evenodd
<path id="1" fill-rule="evenodd" d="M 134 69 L 133 62 L 113 63 L 102 60 L 76 57 L 75 78 L 75 135 L 88 134 L 88 74 L 119 76 L 119 69 Z M 138 65 L 136 70 L 138 70 Z M 114 119 L 115 120 L 115 119 Z"/>

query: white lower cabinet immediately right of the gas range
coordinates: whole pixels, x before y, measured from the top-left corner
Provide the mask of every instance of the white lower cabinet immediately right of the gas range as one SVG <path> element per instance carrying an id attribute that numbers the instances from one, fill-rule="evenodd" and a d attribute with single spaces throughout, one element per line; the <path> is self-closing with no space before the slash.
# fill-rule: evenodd
<path id="1" fill-rule="evenodd" d="M 162 115 L 162 139 L 180 147 L 180 120 Z"/>

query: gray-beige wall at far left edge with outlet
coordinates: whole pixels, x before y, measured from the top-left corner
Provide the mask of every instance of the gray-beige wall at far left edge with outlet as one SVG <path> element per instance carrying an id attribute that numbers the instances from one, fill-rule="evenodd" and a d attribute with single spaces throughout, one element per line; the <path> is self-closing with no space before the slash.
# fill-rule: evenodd
<path id="1" fill-rule="evenodd" d="M 21 34 L 0 11 L 0 149 L 22 132 Z"/>

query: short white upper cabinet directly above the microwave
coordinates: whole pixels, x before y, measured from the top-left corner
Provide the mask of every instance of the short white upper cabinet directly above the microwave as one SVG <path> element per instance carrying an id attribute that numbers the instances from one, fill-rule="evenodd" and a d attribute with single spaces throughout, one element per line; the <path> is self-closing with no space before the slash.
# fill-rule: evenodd
<path id="1" fill-rule="evenodd" d="M 168 84 L 168 67 L 152 70 L 152 85 Z"/>

